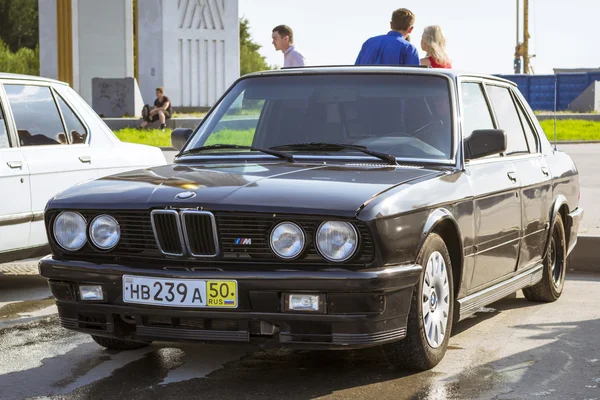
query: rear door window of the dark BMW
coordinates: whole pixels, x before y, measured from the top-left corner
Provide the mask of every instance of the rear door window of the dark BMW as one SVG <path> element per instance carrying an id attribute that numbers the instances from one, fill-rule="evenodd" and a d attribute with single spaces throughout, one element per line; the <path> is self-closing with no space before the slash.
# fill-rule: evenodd
<path id="1" fill-rule="evenodd" d="M 487 89 L 492 107 L 496 111 L 498 127 L 506 132 L 506 154 L 529 153 L 521 119 L 510 89 L 500 86 L 487 86 Z"/>

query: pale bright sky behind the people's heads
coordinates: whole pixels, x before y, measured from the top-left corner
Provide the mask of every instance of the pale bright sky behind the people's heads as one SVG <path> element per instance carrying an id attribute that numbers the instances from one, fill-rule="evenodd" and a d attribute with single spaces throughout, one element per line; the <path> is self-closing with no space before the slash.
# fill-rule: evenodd
<path id="1" fill-rule="evenodd" d="M 270 65 L 283 65 L 271 31 L 294 31 L 296 47 L 311 65 L 353 64 L 362 43 L 389 31 L 392 11 L 416 15 L 411 42 L 419 55 L 427 25 L 440 25 L 453 67 L 487 74 L 513 73 L 516 0 L 239 0 L 239 16 Z M 520 0 L 521 9 L 523 0 Z M 520 13 L 521 37 L 523 13 Z M 600 67 L 600 0 L 529 0 L 529 48 L 536 74 L 553 68 Z"/>

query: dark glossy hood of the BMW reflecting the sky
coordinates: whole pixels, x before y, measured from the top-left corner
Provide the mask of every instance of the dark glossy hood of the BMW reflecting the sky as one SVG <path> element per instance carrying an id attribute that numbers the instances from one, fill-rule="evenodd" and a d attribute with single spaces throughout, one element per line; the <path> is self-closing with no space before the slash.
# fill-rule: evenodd
<path id="1" fill-rule="evenodd" d="M 442 173 L 368 164 L 171 164 L 73 186 L 57 195 L 49 208 L 203 207 L 354 216 L 366 202 L 394 186 Z M 183 192 L 191 192 L 193 197 L 177 199 Z"/>

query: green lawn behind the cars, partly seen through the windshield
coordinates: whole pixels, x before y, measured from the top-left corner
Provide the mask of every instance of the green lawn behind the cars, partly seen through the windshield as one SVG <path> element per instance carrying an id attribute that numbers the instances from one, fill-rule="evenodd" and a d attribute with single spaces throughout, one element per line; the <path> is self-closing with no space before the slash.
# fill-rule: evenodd
<path id="1" fill-rule="evenodd" d="M 548 140 L 554 140 L 554 120 L 540 121 Z M 121 129 L 115 131 L 119 139 L 124 142 L 142 143 L 151 146 L 171 146 L 171 130 L 165 129 Z M 247 130 L 222 130 L 212 135 L 206 145 L 223 143 L 250 146 L 254 137 L 254 129 Z M 556 121 L 557 140 L 600 140 L 600 122 L 583 120 L 558 120 Z"/>

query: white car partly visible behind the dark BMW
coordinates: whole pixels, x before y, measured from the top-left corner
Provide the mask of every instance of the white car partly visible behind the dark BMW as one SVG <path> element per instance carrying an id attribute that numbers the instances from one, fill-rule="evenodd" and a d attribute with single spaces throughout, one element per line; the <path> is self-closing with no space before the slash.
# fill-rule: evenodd
<path id="1" fill-rule="evenodd" d="M 166 163 L 121 142 L 68 84 L 0 73 L 0 263 L 49 253 L 44 208 L 59 192 Z"/>

